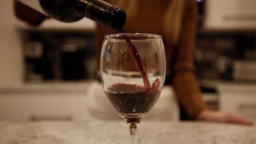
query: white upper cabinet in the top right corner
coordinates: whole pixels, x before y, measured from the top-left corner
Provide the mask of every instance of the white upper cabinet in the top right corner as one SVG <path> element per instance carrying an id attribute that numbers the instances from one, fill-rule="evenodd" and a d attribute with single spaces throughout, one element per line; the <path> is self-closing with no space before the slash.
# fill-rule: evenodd
<path id="1" fill-rule="evenodd" d="M 208 0 L 203 26 L 206 29 L 255 29 L 255 0 Z"/>

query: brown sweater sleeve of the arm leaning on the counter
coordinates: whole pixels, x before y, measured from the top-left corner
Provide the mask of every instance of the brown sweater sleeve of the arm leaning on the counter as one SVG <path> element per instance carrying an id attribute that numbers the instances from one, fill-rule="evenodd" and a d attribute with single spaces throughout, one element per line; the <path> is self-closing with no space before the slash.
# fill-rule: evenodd
<path id="1" fill-rule="evenodd" d="M 194 46 L 197 27 L 196 1 L 186 1 L 182 19 L 181 35 L 177 45 L 172 86 L 179 103 L 192 119 L 208 109 L 201 98 L 199 84 L 195 77 Z"/>

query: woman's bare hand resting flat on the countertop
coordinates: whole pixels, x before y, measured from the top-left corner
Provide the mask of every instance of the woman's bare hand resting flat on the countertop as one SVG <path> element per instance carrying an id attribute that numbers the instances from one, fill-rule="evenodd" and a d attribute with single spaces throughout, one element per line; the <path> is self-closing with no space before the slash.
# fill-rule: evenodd
<path id="1" fill-rule="evenodd" d="M 203 110 L 199 116 L 196 118 L 199 121 L 210 121 L 210 122 L 220 122 L 220 123 L 236 123 L 253 125 L 254 122 L 237 116 L 233 113 L 223 112 L 223 111 L 213 111 L 213 110 Z"/>

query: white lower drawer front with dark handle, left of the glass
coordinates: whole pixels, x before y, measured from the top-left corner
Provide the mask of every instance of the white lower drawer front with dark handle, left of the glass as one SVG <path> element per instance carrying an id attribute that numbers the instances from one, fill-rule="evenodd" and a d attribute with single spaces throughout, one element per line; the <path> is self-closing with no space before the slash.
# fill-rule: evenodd
<path id="1" fill-rule="evenodd" d="M 0 95 L 0 121 L 79 121 L 86 116 L 85 94 Z"/>

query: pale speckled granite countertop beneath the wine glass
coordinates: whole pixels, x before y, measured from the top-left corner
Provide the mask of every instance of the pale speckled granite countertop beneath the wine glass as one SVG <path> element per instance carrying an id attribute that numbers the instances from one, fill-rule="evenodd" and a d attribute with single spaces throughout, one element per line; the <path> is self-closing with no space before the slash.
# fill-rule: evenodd
<path id="1" fill-rule="evenodd" d="M 30 143 L 128 143 L 124 121 L 84 122 L 0 122 L 1 144 Z M 139 143 L 256 143 L 256 126 L 142 121 Z"/>

